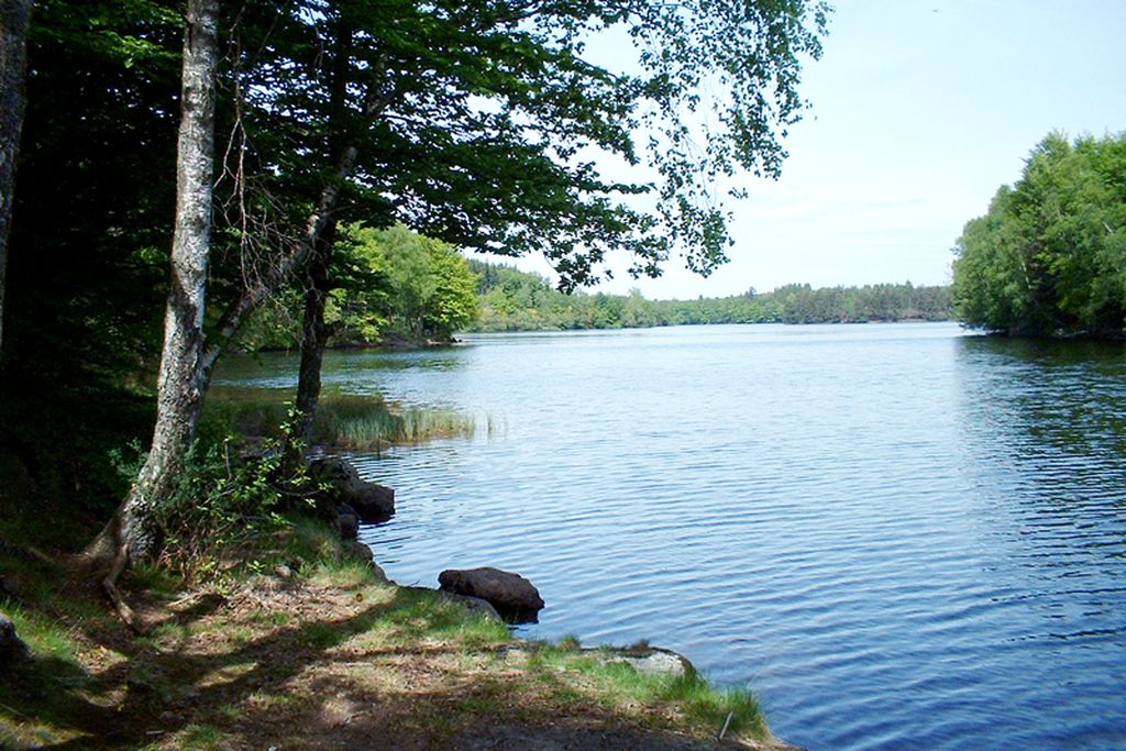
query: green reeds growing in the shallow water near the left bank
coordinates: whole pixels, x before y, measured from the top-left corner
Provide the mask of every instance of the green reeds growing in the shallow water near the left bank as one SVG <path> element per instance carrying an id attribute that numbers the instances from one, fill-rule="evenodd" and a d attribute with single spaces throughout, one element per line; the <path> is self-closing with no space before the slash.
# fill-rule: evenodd
<path id="1" fill-rule="evenodd" d="M 277 391 L 215 388 L 205 415 L 216 435 L 278 436 L 288 405 Z M 413 446 L 431 440 L 472 438 L 473 415 L 457 410 L 401 406 L 379 396 L 325 394 L 313 423 L 313 442 L 339 448 L 381 452 L 388 446 Z M 489 421 L 490 435 L 493 422 Z"/>

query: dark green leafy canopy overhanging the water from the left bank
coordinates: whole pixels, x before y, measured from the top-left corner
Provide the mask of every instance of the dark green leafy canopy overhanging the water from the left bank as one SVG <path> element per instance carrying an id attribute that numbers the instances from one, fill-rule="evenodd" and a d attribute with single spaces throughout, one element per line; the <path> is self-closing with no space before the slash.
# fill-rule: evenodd
<path id="1" fill-rule="evenodd" d="M 235 153 L 259 190 L 250 211 L 312 205 L 354 144 L 341 218 L 542 252 L 568 287 L 610 251 L 637 275 L 672 252 L 707 274 L 730 244 L 716 185 L 778 175 L 826 12 L 814 0 L 247 3 L 227 74 L 242 96 Z M 635 50 L 622 70 L 591 62 L 588 46 L 618 37 Z M 613 179 L 598 154 L 638 169 Z"/>

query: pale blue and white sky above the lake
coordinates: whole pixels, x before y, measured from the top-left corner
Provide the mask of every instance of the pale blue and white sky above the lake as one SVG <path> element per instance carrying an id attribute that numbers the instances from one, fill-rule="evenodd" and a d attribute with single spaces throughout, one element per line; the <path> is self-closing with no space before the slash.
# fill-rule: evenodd
<path id="1" fill-rule="evenodd" d="M 595 289 L 649 298 L 948 284 L 951 248 L 1051 131 L 1126 131 L 1126 0 L 832 0 L 811 109 L 777 181 L 745 177 L 734 247 L 708 278 L 617 267 Z M 597 52 L 596 52 L 597 54 Z M 495 260 L 495 259 L 492 259 Z M 551 277 L 540 258 L 517 261 Z"/>

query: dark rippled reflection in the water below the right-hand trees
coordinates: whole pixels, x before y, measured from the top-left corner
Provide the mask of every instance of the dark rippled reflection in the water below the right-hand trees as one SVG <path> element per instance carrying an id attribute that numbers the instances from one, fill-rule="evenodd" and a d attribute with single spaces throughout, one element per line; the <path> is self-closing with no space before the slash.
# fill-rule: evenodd
<path id="1" fill-rule="evenodd" d="M 1035 614 L 1020 642 L 1074 667 L 1126 633 L 1126 348 L 965 339 L 964 466 L 992 519 L 989 572 Z M 1098 670 L 1092 668 L 1092 670 Z"/>

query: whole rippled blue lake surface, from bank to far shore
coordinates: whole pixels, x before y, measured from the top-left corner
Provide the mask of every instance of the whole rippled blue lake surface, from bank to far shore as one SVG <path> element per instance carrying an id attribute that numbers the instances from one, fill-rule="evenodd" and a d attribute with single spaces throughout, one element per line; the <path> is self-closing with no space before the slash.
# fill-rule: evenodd
<path id="1" fill-rule="evenodd" d="M 292 386 L 293 357 L 221 383 Z M 325 384 L 477 415 L 357 457 L 401 583 L 520 572 L 810 749 L 1126 748 L 1126 349 L 951 324 L 466 337 Z M 485 426 L 491 426 L 491 430 Z"/>

